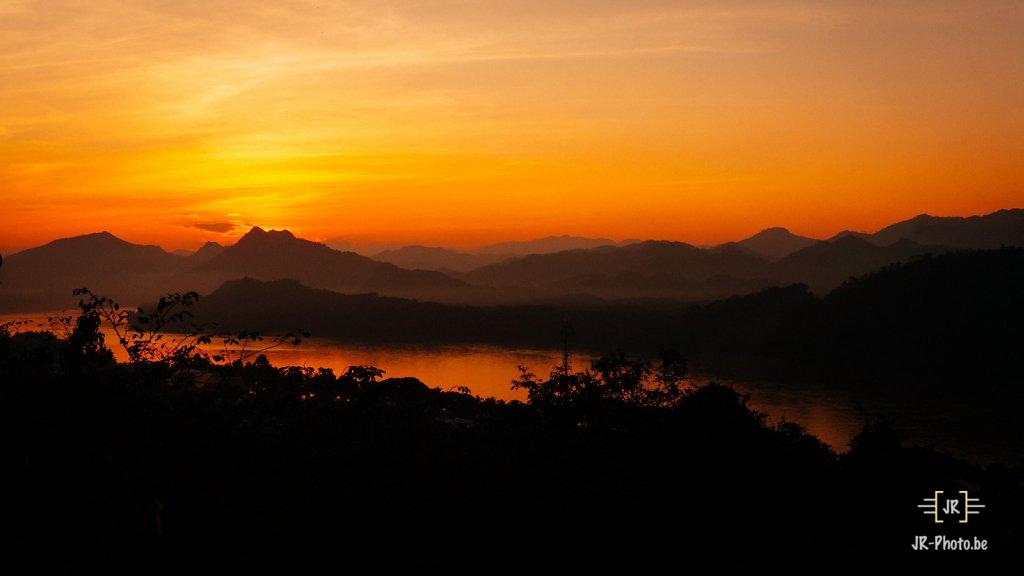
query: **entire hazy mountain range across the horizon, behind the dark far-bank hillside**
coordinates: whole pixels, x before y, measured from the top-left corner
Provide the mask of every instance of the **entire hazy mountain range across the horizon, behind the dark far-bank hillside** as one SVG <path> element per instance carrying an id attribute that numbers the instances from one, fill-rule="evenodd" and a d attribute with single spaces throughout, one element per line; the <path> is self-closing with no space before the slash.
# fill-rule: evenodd
<path id="1" fill-rule="evenodd" d="M 852 276 L 923 254 L 1004 245 L 1024 245 L 1024 210 L 966 218 L 922 215 L 874 234 L 843 233 L 827 241 L 774 228 L 710 248 L 549 237 L 472 252 L 407 246 L 377 258 L 260 228 L 233 245 L 210 242 L 188 254 L 103 232 L 9 255 L 0 268 L 0 311 L 68 307 L 74 304 L 71 291 L 82 286 L 137 303 L 171 291 L 206 293 L 244 277 L 450 303 L 703 300 L 794 282 L 823 293 Z M 559 249 L 566 246 L 573 247 Z"/>

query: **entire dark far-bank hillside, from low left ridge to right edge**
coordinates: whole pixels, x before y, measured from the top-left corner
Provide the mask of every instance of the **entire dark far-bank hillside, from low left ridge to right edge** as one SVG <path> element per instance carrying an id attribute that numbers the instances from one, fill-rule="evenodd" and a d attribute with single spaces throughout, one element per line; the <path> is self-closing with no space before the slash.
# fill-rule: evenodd
<path id="1" fill-rule="evenodd" d="M 205 297 L 202 323 L 369 342 L 551 347 L 569 319 L 579 349 L 686 351 L 707 364 L 830 381 L 899 375 L 909 383 L 1024 377 L 1024 250 L 922 257 L 852 280 L 824 298 L 804 285 L 700 305 L 457 306 L 296 282 L 230 282 Z"/>

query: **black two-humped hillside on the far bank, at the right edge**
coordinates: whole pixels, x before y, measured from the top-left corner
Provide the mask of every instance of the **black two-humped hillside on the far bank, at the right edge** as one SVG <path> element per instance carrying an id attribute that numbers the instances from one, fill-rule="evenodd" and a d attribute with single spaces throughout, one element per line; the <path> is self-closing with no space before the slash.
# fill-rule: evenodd
<path id="1" fill-rule="evenodd" d="M 709 355 L 761 359 L 820 378 L 928 387 L 1024 378 L 1024 250 L 950 252 L 851 279 L 824 298 L 802 286 L 694 306 L 682 321 Z M 683 349 L 690 349 L 684 347 Z"/>

